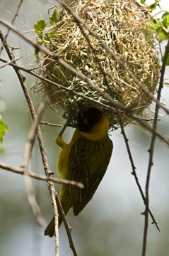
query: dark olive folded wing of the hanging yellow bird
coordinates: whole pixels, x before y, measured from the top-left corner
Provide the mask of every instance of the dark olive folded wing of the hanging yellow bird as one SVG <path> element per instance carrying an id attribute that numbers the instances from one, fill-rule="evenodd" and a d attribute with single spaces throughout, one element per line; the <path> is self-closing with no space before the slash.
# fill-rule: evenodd
<path id="1" fill-rule="evenodd" d="M 74 215 L 83 210 L 91 200 L 102 180 L 112 154 L 109 137 L 90 141 L 80 137 L 71 148 L 69 171 L 73 181 L 81 181 L 84 188 L 70 186 L 71 203 Z"/>

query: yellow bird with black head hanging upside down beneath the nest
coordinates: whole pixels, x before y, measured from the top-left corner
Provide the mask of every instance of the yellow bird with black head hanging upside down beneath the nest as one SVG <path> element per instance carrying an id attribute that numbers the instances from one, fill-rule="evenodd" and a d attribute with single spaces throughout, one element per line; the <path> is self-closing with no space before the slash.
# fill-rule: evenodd
<path id="1" fill-rule="evenodd" d="M 105 114 L 95 107 L 81 107 L 77 128 L 71 142 L 66 144 L 58 136 L 61 147 L 57 160 L 57 172 L 62 178 L 81 181 L 84 188 L 62 184 L 59 200 L 65 215 L 73 208 L 74 215 L 83 210 L 91 200 L 102 180 L 112 154 L 112 141 L 108 137 L 110 127 Z M 62 218 L 59 216 L 59 225 Z M 45 229 L 45 235 L 54 235 L 54 218 Z"/>

